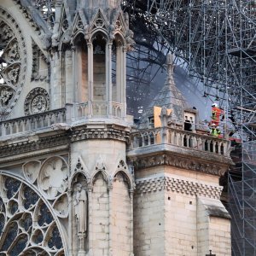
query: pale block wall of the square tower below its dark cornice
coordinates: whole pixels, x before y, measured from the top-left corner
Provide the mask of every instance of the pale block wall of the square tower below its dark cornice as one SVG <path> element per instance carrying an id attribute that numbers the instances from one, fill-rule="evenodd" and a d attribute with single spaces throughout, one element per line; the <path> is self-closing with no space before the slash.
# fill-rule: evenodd
<path id="1" fill-rule="evenodd" d="M 153 171 L 154 169 L 154 171 Z M 148 175 L 147 175 L 148 173 Z M 135 255 L 216 255 L 230 252 L 230 215 L 219 201 L 222 187 L 211 175 L 144 169 L 137 173 Z"/>

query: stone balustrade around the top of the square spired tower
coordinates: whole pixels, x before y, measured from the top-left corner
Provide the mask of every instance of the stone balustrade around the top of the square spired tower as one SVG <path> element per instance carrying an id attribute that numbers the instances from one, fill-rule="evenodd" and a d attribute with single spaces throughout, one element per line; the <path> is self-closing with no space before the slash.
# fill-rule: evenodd
<path id="1" fill-rule="evenodd" d="M 169 127 L 132 132 L 130 149 L 165 143 L 225 156 L 230 154 L 230 142 L 227 140 Z"/>

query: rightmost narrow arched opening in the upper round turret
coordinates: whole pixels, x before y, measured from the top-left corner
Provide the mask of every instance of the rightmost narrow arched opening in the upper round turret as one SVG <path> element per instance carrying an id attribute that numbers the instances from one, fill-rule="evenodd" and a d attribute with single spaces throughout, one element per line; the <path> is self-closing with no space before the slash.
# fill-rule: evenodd
<path id="1" fill-rule="evenodd" d="M 122 97 L 122 50 L 123 39 L 117 34 L 112 46 L 112 100 L 119 103 Z"/>

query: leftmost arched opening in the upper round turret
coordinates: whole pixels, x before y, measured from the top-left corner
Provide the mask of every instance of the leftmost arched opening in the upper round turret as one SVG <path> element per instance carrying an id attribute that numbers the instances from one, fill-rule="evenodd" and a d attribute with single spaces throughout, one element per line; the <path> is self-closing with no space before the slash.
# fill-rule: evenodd
<path id="1" fill-rule="evenodd" d="M 75 53 L 75 84 L 76 101 L 79 103 L 87 102 L 89 98 L 88 91 L 88 48 L 83 34 L 75 39 L 76 53 Z"/>

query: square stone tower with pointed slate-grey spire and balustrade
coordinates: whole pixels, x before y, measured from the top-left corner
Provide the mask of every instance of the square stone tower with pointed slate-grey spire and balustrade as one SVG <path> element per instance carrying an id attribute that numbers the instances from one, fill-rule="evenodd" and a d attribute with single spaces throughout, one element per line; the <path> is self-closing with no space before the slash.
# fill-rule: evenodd
<path id="1" fill-rule="evenodd" d="M 195 125 L 173 79 L 167 79 L 131 134 L 127 157 L 134 166 L 135 255 L 231 255 L 230 215 L 220 201 L 230 142 Z M 191 130 L 185 131 L 189 119 Z"/>

